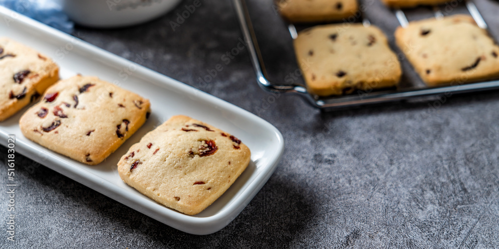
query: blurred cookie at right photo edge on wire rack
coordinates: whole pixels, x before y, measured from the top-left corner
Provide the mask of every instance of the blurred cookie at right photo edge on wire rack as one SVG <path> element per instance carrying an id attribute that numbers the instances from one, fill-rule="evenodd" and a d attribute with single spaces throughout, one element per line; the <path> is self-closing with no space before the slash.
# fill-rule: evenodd
<path id="1" fill-rule="evenodd" d="M 499 46 L 469 15 L 413 21 L 395 38 L 429 86 L 499 77 Z"/>

